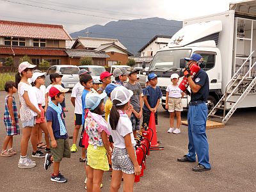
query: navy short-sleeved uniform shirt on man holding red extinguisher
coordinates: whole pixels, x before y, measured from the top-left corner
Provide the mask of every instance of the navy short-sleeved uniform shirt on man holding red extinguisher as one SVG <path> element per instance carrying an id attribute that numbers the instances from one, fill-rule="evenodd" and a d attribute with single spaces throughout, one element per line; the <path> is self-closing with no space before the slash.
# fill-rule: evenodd
<path id="1" fill-rule="evenodd" d="M 191 101 L 207 101 L 209 95 L 209 78 L 207 73 L 201 68 L 193 78 L 193 81 L 195 82 L 195 84 L 199 84 L 200 86 L 202 86 L 202 88 L 200 88 L 197 93 L 191 92 Z"/>

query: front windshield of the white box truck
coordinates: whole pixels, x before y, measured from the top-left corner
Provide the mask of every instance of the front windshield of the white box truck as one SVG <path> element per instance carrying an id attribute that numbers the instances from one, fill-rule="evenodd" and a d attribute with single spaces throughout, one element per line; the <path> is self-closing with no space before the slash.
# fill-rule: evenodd
<path id="1" fill-rule="evenodd" d="M 191 49 L 176 49 L 168 51 L 159 51 L 152 60 L 149 71 L 168 70 L 171 67 L 180 68 L 180 59 L 189 58 Z"/>

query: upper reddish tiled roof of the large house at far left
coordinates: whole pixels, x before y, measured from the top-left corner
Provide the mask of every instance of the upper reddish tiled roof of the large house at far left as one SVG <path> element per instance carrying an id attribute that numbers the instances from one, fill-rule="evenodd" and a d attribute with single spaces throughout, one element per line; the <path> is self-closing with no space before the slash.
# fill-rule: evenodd
<path id="1" fill-rule="evenodd" d="M 0 20 L 0 36 L 72 40 L 61 25 Z"/>

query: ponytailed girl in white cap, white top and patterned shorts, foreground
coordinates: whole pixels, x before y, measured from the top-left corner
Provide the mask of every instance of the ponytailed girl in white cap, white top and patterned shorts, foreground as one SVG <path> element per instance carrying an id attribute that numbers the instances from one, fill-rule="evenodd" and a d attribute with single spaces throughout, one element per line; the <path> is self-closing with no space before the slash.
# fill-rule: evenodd
<path id="1" fill-rule="evenodd" d="M 118 86 L 111 92 L 111 108 L 108 128 L 114 141 L 112 153 L 112 179 L 110 191 L 118 191 L 122 175 L 124 177 L 124 191 L 132 191 L 135 175 L 140 175 L 141 168 L 137 162 L 134 147 L 136 141 L 132 132 L 132 123 L 129 115 L 132 113 L 130 99 L 131 90 Z"/>

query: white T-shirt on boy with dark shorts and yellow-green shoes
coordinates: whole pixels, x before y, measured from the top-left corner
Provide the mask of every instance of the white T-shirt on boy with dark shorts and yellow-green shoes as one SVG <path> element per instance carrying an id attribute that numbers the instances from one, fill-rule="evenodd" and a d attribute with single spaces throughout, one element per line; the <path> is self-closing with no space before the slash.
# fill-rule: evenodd
<path id="1" fill-rule="evenodd" d="M 82 93 L 84 90 L 84 86 L 78 82 L 74 88 L 72 89 L 71 97 L 75 98 L 75 111 L 76 114 L 83 114 L 82 111 Z"/>

